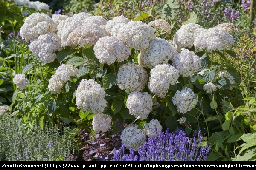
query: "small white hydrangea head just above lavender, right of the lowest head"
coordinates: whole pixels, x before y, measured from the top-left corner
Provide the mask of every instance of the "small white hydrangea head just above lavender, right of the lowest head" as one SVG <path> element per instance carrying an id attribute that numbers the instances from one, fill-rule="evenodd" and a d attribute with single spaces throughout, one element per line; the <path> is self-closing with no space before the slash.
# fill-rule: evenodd
<path id="1" fill-rule="evenodd" d="M 154 137 L 155 135 L 158 136 L 163 129 L 162 125 L 157 119 L 152 119 L 149 123 L 145 123 L 143 128 L 147 131 L 147 136 L 149 138 Z M 157 131 L 155 128 L 157 128 Z"/>

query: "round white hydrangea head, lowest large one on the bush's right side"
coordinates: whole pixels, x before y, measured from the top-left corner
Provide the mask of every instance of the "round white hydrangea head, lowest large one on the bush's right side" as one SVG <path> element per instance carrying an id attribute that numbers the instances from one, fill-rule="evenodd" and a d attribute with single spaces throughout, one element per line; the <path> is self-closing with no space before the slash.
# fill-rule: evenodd
<path id="1" fill-rule="evenodd" d="M 180 113 L 187 113 L 192 108 L 195 108 L 198 103 L 198 96 L 191 88 L 183 88 L 181 91 L 177 90 L 172 97 L 172 102 L 177 106 L 177 111 Z"/>

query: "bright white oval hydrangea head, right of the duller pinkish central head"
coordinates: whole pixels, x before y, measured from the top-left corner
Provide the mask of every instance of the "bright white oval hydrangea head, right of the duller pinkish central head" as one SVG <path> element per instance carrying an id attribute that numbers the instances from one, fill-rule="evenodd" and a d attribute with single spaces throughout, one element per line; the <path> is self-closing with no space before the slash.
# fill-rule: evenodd
<path id="1" fill-rule="evenodd" d="M 170 85 L 179 79 L 179 71 L 170 64 L 159 64 L 150 71 L 148 89 L 158 97 L 165 97 Z"/>

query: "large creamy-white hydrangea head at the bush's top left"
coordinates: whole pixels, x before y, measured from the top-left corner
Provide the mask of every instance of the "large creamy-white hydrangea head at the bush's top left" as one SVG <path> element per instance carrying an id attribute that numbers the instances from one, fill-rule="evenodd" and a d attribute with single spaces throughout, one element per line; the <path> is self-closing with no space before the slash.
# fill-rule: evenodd
<path id="1" fill-rule="evenodd" d="M 56 31 L 56 23 L 47 14 L 33 13 L 24 20 L 20 28 L 20 36 L 26 41 L 31 41 L 47 32 L 56 33 Z"/>

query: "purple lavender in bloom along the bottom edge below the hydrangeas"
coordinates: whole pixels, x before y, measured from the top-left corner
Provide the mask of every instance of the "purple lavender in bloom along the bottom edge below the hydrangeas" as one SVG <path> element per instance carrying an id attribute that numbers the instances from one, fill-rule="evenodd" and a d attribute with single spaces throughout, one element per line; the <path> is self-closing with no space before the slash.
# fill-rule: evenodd
<path id="1" fill-rule="evenodd" d="M 210 147 L 200 146 L 202 138 L 201 131 L 189 139 L 183 130 L 173 133 L 167 129 L 159 136 L 148 138 L 137 152 L 130 148 L 130 154 L 124 154 L 125 146 L 122 145 L 112 161 L 205 161 Z"/>

